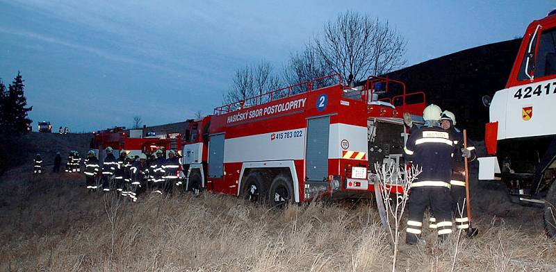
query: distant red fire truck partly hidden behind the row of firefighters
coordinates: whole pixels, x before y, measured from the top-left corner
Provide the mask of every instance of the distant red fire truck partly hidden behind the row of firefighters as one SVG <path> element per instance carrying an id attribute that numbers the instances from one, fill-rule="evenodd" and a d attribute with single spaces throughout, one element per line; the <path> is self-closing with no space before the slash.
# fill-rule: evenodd
<path id="1" fill-rule="evenodd" d="M 126 130 L 125 127 L 114 127 L 100 130 L 94 133 L 91 148 L 97 151 L 99 158 L 104 158 L 104 149 L 111 146 L 117 157 L 118 152 L 124 149 L 128 154 L 139 155 L 145 153 L 150 155 L 161 149 L 170 149 L 181 152 L 181 134 L 171 133 L 149 137 L 142 136 L 142 130 Z"/>

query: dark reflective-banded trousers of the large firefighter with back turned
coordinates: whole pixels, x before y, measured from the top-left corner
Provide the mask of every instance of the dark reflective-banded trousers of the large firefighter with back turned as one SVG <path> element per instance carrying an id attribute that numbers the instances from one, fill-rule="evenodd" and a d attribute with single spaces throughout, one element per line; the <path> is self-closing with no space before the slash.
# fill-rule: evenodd
<path id="1" fill-rule="evenodd" d="M 423 229 L 425 209 L 431 207 L 441 239 L 452 233 L 452 196 L 448 187 L 414 187 L 409 193 L 407 243 L 416 244 Z"/>

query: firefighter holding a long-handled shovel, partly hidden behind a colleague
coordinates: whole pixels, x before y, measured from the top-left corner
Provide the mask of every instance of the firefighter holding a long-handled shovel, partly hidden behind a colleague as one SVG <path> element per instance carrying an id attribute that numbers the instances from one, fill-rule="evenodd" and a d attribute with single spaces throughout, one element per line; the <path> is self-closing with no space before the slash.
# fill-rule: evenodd
<path id="1" fill-rule="evenodd" d="M 464 134 L 455 127 L 455 114 L 445 110 L 442 112 L 441 126 L 452 135 L 454 139 L 455 153 L 452 158 L 452 178 L 450 179 L 450 193 L 452 194 L 452 213 L 455 216 L 457 230 L 462 230 L 469 237 L 477 234 L 476 229 L 469 228 L 469 219 L 466 209 L 466 184 L 465 184 L 465 163 L 464 157 L 470 161 L 475 160 L 475 146 L 467 139 L 467 148 L 464 148 Z"/>

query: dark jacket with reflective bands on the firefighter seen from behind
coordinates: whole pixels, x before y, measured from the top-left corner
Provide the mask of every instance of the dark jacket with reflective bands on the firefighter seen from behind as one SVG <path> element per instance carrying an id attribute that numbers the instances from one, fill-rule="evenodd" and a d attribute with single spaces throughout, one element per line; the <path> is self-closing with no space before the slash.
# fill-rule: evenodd
<path id="1" fill-rule="evenodd" d="M 405 155 L 423 171 L 411 187 L 449 188 L 454 150 L 450 133 L 438 126 L 423 126 L 411 134 L 404 148 Z"/>

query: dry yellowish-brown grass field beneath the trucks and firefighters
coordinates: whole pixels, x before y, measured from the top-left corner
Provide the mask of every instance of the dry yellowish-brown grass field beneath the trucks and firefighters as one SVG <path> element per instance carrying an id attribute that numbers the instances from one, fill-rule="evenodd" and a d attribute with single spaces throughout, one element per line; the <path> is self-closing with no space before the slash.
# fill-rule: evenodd
<path id="1" fill-rule="evenodd" d="M 130 203 L 88 194 L 79 174 L 30 169 L 0 178 L 0 271 L 391 271 L 372 202 L 268 210 L 205 192 Z M 455 235 L 439 244 L 427 231 L 426 245 L 401 245 L 397 270 L 451 271 L 457 253 L 454 271 L 556 271 L 539 210 L 475 187 L 480 235 L 456 250 Z"/>

